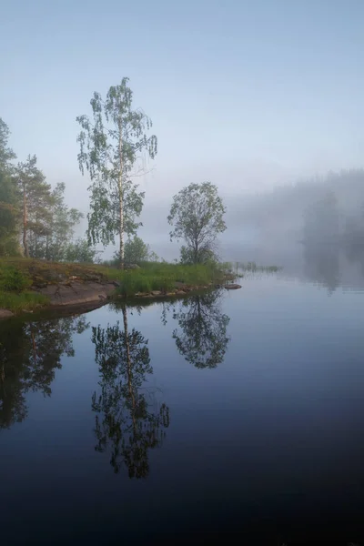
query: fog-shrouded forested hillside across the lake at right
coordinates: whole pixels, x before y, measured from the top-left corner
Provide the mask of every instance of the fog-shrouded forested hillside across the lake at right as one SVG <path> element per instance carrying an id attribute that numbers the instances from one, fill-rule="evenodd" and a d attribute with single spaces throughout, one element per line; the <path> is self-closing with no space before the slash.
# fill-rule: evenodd
<path id="1" fill-rule="evenodd" d="M 239 203 L 244 224 L 258 229 L 262 240 L 364 240 L 364 170 L 329 173 L 246 196 Z"/>

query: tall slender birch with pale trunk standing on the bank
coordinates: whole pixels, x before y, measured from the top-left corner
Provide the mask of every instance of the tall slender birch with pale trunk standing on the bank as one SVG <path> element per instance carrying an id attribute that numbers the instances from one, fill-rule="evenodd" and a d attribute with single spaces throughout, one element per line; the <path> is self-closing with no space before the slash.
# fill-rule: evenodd
<path id="1" fill-rule="evenodd" d="M 147 136 L 152 126 L 141 109 L 132 109 L 133 92 L 124 77 L 111 86 L 104 100 L 94 93 L 90 101 L 92 117 L 77 116 L 81 126 L 78 164 L 91 178 L 91 211 L 87 215 L 89 242 L 104 247 L 119 238 L 120 267 L 124 267 L 124 234 L 134 235 L 144 192 L 131 180 L 139 158 L 157 154 L 157 136 Z"/>

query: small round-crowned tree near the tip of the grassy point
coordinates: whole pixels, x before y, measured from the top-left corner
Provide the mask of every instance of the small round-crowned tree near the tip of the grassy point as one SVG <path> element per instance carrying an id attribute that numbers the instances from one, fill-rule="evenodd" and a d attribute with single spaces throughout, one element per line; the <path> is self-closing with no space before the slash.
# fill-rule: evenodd
<path id="1" fill-rule="evenodd" d="M 168 223 L 170 238 L 183 239 L 181 259 L 185 263 L 204 263 L 214 257 L 217 234 L 225 231 L 226 208 L 217 187 L 210 182 L 190 184 L 173 197 Z"/>

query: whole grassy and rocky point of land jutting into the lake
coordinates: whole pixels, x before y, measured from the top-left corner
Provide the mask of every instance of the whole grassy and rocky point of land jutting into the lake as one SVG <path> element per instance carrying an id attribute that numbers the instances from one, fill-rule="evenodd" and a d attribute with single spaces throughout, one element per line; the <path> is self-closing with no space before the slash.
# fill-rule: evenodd
<path id="1" fill-rule="evenodd" d="M 131 270 L 130 270 L 131 269 Z M 148 263 L 119 270 L 96 264 L 0 259 L 0 319 L 63 308 L 99 308 L 109 301 L 184 298 L 214 288 L 234 288 L 221 268 Z M 239 285 L 235 285 L 240 288 Z"/>

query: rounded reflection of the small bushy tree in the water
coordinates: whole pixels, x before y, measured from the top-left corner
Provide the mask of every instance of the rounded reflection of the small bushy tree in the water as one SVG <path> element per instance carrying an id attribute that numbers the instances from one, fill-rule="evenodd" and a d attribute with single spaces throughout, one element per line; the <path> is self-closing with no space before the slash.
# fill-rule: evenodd
<path id="1" fill-rule="evenodd" d="M 221 312 L 220 293 L 211 291 L 182 300 L 173 318 L 179 327 L 173 338 L 180 354 L 196 368 L 216 368 L 224 359 L 229 340 L 230 319 Z"/>

